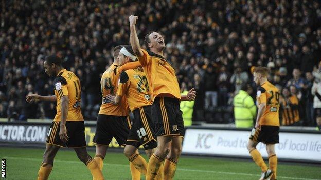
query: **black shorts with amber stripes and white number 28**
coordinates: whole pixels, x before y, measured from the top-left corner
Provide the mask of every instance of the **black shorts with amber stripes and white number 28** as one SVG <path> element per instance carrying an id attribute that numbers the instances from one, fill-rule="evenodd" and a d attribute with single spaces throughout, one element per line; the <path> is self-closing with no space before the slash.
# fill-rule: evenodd
<path id="1" fill-rule="evenodd" d="M 145 150 L 157 147 L 156 136 L 152 124 L 152 106 L 144 106 L 135 109 L 131 131 L 127 138 L 127 144 L 138 148 L 144 146 Z"/>

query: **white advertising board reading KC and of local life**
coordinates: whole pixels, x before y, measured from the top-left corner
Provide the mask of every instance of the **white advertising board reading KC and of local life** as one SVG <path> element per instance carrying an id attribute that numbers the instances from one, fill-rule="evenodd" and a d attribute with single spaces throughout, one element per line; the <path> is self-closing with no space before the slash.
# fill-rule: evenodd
<path id="1" fill-rule="evenodd" d="M 189 127 L 183 142 L 183 154 L 249 158 L 246 148 L 251 129 L 224 127 Z M 278 159 L 283 161 L 321 163 L 321 133 L 319 131 L 281 128 L 280 143 L 275 145 Z M 265 145 L 257 149 L 268 157 Z"/>

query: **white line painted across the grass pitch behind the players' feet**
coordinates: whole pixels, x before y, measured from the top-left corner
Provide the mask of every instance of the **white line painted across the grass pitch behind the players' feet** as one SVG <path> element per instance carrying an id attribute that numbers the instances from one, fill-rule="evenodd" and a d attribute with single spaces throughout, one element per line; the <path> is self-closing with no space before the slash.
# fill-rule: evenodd
<path id="1" fill-rule="evenodd" d="M 11 157 L 7 156 L 4 157 L 5 159 L 15 159 L 15 160 L 25 160 L 25 161 L 39 161 L 41 162 L 42 159 L 40 158 L 28 158 L 28 157 Z M 69 161 L 69 160 L 61 160 L 55 159 L 55 162 L 61 163 L 73 163 L 73 164 L 83 164 L 81 161 Z M 104 165 L 108 166 L 122 166 L 122 167 L 129 167 L 129 165 L 123 164 L 111 164 L 111 163 L 104 163 Z M 192 171 L 192 172 L 206 172 L 206 173 L 218 173 L 218 174 L 233 174 L 233 175 L 244 175 L 244 176 L 260 176 L 258 174 L 247 174 L 247 173 L 239 173 L 239 172 L 224 172 L 224 171 L 208 171 L 208 170 L 197 170 L 197 169 L 184 169 L 184 168 L 177 168 L 177 171 Z M 320 179 L 310 179 L 310 178 L 298 178 L 298 177 L 287 177 L 287 176 L 278 176 L 282 179 L 295 179 L 295 180 L 320 180 Z"/>

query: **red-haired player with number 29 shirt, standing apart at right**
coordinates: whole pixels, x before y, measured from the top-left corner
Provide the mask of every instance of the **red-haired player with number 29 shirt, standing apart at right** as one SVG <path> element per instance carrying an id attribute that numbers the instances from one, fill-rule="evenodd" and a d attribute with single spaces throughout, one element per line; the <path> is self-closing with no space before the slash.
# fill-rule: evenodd
<path id="1" fill-rule="evenodd" d="M 258 113 L 255 128 L 249 138 L 247 149 L 253 161 L 261 168 L 260 179 L 276 179 L 277 157 L 274 145 L 279 143 L 279 90 L 271 84 L 268 77 L 268 68 L 256 67 L 254 69 L 254 82 L 259 86 L 257 90 Z M 263 161 L 260 152 L 256 149 L 259 142 L 266 145 L 269 155 L 269 166 Z"/>

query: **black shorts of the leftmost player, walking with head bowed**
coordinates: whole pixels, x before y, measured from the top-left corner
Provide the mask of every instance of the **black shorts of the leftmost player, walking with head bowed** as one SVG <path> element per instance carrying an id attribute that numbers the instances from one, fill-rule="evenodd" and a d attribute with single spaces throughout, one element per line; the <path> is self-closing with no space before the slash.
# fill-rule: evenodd
<path id="1" fill-rule="evenodd" d="M 60 122 L 53 121 L 47 134 L 46 143 L 60 147 L 68 146 L 69 148 L 86 147 L 85 124 L 83 121 L 67 121 L 66 129 L 69 139 L 64 143 L 59 137 Z"/>

